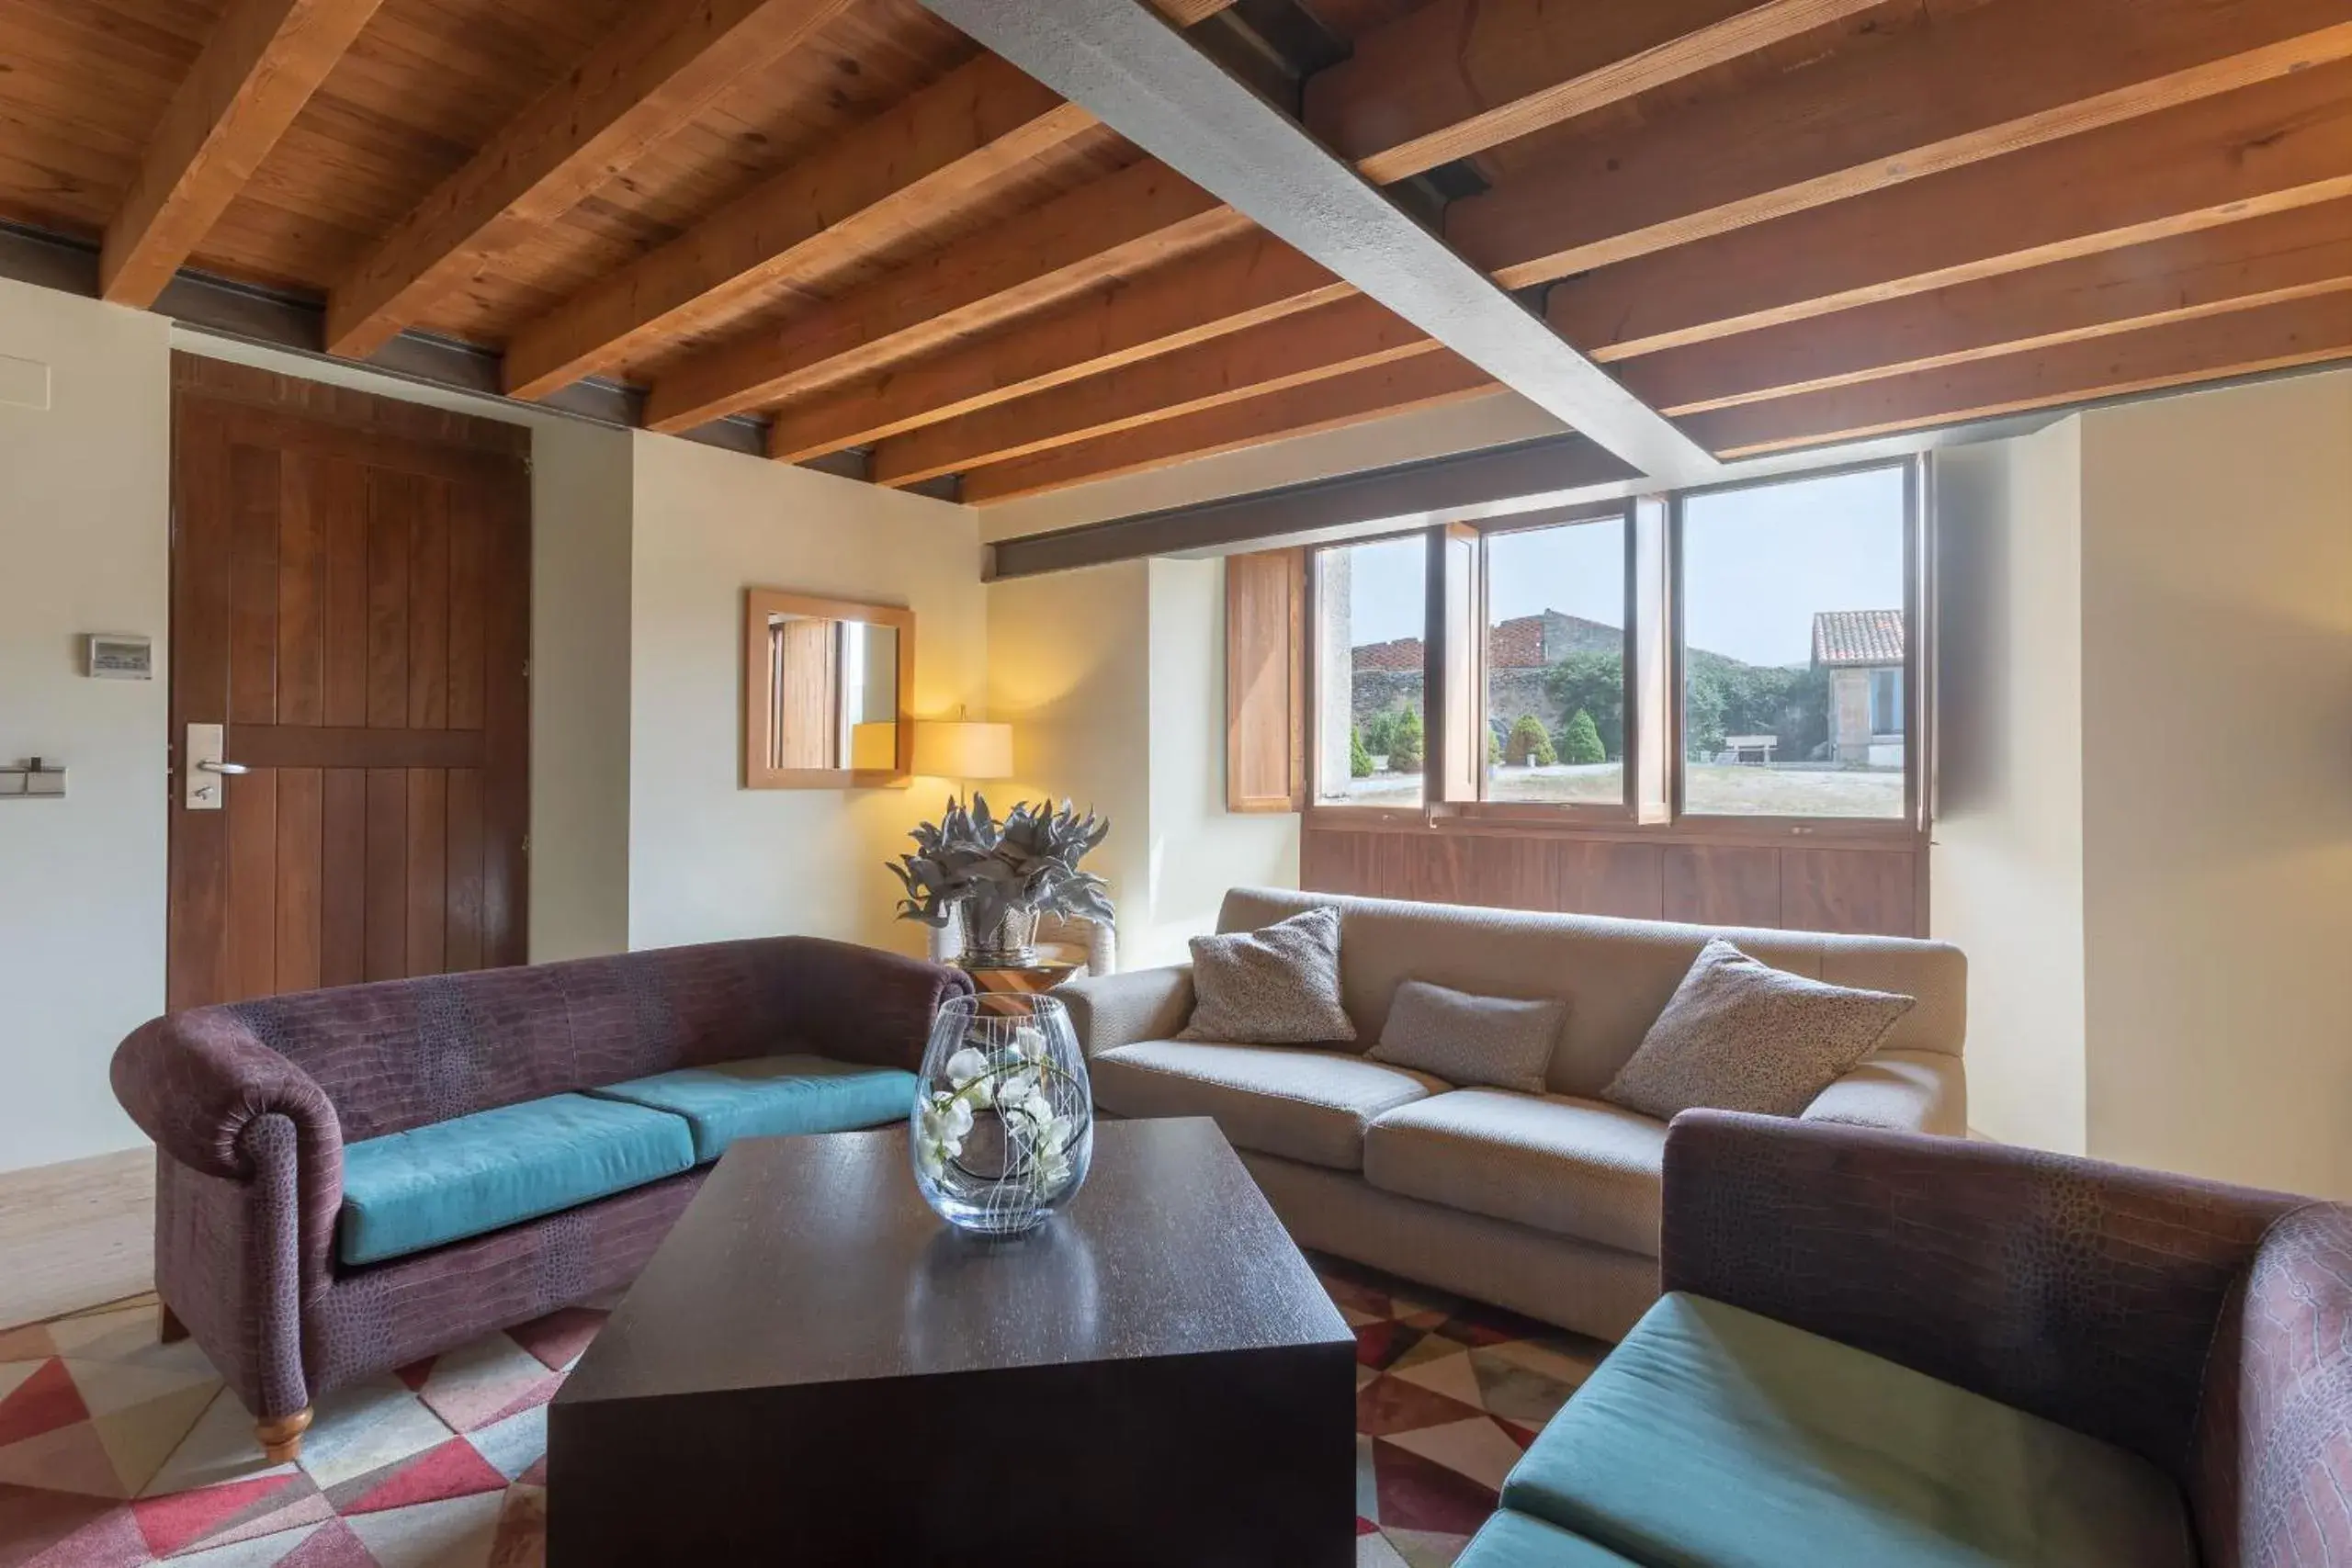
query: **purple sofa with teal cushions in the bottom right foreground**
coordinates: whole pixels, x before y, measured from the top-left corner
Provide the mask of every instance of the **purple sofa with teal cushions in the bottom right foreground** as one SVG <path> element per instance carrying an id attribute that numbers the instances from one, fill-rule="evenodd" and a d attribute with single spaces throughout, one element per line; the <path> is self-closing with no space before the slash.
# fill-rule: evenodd
<path id="1" fill-rule="evenodd" d="M 2343 1204 L 1684 1112 L 1661 1267 L 1461 1568 L 2352 1563 Z"/>

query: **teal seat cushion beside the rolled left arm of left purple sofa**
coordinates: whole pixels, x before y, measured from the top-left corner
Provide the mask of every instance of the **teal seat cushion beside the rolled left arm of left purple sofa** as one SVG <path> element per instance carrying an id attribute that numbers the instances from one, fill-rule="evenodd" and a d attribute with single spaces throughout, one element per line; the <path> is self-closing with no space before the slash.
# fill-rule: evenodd
<path id="1" fill-rule="evenodd" d="M 677 1117 L 548 1095 L 343 1145 L 343 1262 L 383 1262 L 694 1168 Z"/>

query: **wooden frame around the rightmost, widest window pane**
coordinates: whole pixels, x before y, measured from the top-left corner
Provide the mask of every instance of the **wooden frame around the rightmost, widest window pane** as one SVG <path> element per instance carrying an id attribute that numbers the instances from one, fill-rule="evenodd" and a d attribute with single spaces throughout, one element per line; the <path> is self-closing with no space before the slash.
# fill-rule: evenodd
<path id="1" fill-rule="evenodd" d="M 1689 811 L 1684 785 L 1689 783 L 1689 748 L 1684 745 L 1684 510 L 1693 498 L 1722 496 L 1773 484 L 1806 484 L 1856 473 L 1896 470 L 1903 475 L 1903 816 L 1766 816 Z M 1668 797 L 1672 802 L 1672 825 L 1682 835 L 1757 839 L 1757 837 L 1820 837 L 1853 844 L 1922 844 L 1926 839 L 1926 802 L 1931 799 L 1931 759 L 1926 736 L 1933 733 L 1929 705 L 1933 701 L 1929 677 L 1929 639 L 1933 625 L 1924 614 L 1931 602 L 1926 562 L 1933 559 L 1929 517 L 1924 498 L 1924 465 L 1917 456 L 1875 458 L 1863 463 L 1839 463 L 1837 468 L 1811 468 L 1802 473 L 1771 475 L 1766 480 L 1738 480 L 1731 484 L 1705 484 L 1675 491 L 1665 498 L 1665 576 L 1668 576 Z"/>

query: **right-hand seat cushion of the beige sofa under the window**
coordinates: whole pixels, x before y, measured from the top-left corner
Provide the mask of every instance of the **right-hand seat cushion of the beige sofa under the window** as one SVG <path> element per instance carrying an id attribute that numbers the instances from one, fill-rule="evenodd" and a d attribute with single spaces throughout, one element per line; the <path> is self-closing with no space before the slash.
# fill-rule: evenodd
<path id="1" fill-rule="evenodd" d="M 1665 1124 L 1602 1100 L 1456 1088 L 1383 1114 L 1364 1180 L 1383 1192 L 1658 1255 Z"/>

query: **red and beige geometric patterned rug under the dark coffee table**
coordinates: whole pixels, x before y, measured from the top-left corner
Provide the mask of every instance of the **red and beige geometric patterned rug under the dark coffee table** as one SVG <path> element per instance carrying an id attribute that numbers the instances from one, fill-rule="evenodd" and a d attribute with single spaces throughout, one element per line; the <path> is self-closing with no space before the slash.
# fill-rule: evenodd
<path id="1" fill-rule="evenodd" d="M 1357 1563 L 1451 1563 L 1606 1345 L 1317 1258 L 1357 1335 Z M 0 1333 L 0 1568 L 539 1568 L 574 1307 L 318 1403 L 296 1465 L 155 1300 Z"/>

